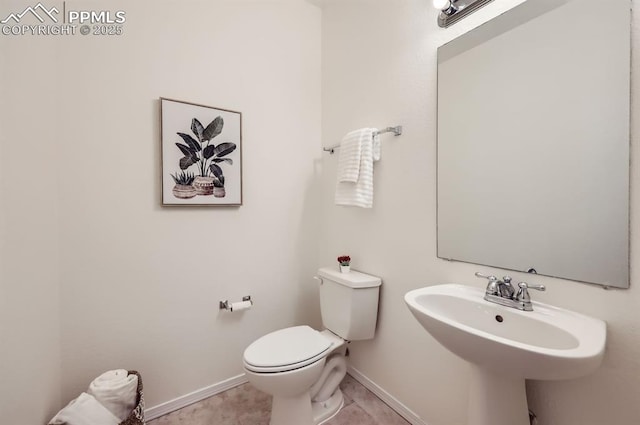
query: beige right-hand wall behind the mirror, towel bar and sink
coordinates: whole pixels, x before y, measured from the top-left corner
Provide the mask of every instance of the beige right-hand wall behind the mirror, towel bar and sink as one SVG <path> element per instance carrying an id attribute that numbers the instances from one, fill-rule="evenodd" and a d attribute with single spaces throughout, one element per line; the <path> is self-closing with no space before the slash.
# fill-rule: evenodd
<path id="1" fill-rule="evenodd" d="M 323 143 L 337 143 L 347 131 L 364 126 L 403 125 L 404 134 L 384 136 L 372 210 L 332 205 L 337 157 L 325 156 L 320 262 L 349 253 L 354 268 L 383 278 L 377 337 L 352 344 L 351 362 L 429 425 L 466 423 L 467 366 L 420 327 L 403 295 L 446 282 L 483 286 L 473 276 L 478 266 L 436 258 L 436 48 L 517 3 L 493 2 L 442 30 L 429 1 L 323 2 Z M 635 84 L 633 94 L 637 101 Z M 632 116 L 632 121 L 636 130 L 638 119 Z M 640 220 L 636 169 L 632 167 L 632 228 Z M 632 234 L 632 247 L 638 242 Z M 638 259 L 632 250 L 632 264 Z M 639 278 L 632 268 L 631 289 L 611 291 L 539 278 L 548 290 L 536 293 L 537 299 L 606 320 L 609 336 L 604 363 L 594 375 L 529 383 L 530 405 L 541 424 L 637 422 Z"/>

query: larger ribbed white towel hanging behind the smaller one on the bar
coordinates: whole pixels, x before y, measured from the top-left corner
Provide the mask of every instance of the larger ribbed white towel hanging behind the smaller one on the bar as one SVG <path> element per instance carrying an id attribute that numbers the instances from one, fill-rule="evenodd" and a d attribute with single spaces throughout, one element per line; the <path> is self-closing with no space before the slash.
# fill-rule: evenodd
<path id="1" fill-rule="evenodd" d="M 373 207 L 373 162 L 380 159 L 380 136 L 375 128 L 364 128 L 357 131 L 361 136 L 357 180 L 355 182 L 343 181 L 340 178 L 340 171 L 338 172 L 335 203 L 336 205 L 371 208 Z M 342 150 L 342 144 L 340 150 Z"/>

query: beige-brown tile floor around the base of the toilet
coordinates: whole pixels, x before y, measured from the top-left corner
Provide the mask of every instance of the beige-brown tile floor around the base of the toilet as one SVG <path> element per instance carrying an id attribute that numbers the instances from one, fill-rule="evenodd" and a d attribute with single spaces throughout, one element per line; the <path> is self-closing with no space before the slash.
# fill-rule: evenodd
<path id="1" fill-rule="evenodd" d="M 382 400 L 347 375 L 344 407 L 325 425 L 409 425 Z M 148 422 L 148 425 L 268 425 L 271 397 L 243 384 Z M 294 425 L 294 424 L 292 424 Z"/>

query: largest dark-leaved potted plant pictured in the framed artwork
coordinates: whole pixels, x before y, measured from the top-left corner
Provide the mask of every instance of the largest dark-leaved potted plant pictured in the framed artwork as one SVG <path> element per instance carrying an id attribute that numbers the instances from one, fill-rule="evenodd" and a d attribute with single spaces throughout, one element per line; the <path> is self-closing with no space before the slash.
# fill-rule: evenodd
<path id="1" fill-rule="evenodd" d="M 187 170 L 195 166 L 198 175 L 195 176 L 193 187 L 197 195 L 213 195 L 222 198 L 226 195 L 224 189 L 224 174 L 218 165 L 228 163 L 233 165 L 231 158 L 225 158 L 236 149 L 235 143 L 223 142 L 214 144 L 213 139 L 222 132 L 224 121 L 218 116 L 204 127 L 197 118 L 191 120 L 191 131 L 195 138 L 186 133 L 177 133 L 184 144 L 176 143 L 176 146 L 184 157 L 180 159 L 180 169 Z"/>

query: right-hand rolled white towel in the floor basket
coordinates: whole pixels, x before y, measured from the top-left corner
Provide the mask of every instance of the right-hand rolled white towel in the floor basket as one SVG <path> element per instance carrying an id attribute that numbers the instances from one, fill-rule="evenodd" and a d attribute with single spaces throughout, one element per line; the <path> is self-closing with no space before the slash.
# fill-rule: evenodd
<path id="1" fill-rule="evenodd" d="M 89 385 L 89 394 L 124 421 L 136 407 L 138 376 L 124 369 L 110 370 Z"/>

